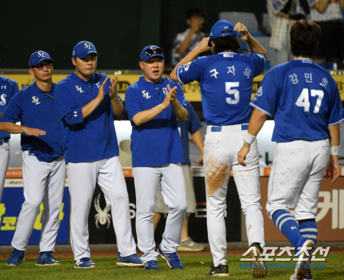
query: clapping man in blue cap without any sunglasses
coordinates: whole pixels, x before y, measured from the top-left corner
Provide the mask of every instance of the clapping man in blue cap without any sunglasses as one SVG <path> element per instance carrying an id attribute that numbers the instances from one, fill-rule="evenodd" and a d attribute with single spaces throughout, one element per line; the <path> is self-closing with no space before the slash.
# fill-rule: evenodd
<path id="1" fill-rule="evenodd" d="M 117 95 L 117 77 L 95 73 L 94 45 L 79 42 L 73 49 L 75 73 L 57 85 L 57 109 L 62 120 L 63 151 L 71 196 L 70 240 L 75 268 L 93 268 L 88 246 L 88 214 L 96 183 L 112 210 L 117 265 L 143 267 L 131 233 L 128 191 L 118 161 L 114 118 L 124 117 Z"/>

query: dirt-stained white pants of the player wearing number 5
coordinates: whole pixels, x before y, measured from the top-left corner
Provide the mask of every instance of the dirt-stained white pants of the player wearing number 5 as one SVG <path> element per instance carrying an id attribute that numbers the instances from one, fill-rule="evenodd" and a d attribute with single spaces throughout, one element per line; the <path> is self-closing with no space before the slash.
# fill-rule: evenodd
<path id="1" fill-rule="evenodd" d="M 207 127 L 204 140 L 204 177 L 206 187 L 207 226 L 214 266 L 227 264 L 225 207 L 230 168 L 246 218 L 249 245 L 264 243 L 263 215 L 260 206 L 260 176 L 257 141 L 246 156 L 244 167 L 238 163 L 237 153 L 244 144 L 247 125 Z M 212 127 L 214 127 L 212 129 Z M 216 131 L 220 130 L 221 131 Z M 212 131 L 213 130 L 213 131 Z M 229 213 L 230 215 L 230 213 Z"/>

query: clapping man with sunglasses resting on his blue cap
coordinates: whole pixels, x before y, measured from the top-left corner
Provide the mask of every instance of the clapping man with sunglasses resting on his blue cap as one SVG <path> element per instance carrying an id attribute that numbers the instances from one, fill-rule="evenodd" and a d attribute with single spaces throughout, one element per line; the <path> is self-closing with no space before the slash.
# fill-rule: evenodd
<path id="1" fill-rule="evenodd" d="M 185 122 L 187 111 L 181 86 L 161 77 L 164 51 L 148 46 L 141 52 L 144 77 L 125 93 L 125 106 L 133 126 L 131 152 L 136 191 L 136 231 L 146 270 L 158 269 L 158 255 L 171 268 L 183 269 L 176 252 L 180 245 L 187 196 L 180 162 L 184 161 L 177 119 Z M 170 209 L 163 240 L 155 250 L 152 217 L 158 187 Z"/>

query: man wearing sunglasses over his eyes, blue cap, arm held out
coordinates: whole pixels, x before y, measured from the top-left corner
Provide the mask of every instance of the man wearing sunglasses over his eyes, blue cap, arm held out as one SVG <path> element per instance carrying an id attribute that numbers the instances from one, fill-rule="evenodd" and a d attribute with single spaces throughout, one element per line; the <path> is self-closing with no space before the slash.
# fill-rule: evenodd
<path id="1" fill-rule="evenodd" d="M 21 133 L 23 150 L 24 197 L 14 250 L 6 265 L 24 261 L 34 222 L 43 200 L 41 239 L 36 265 L 59 265 L 54 252 L 62 204 L 66 166 L 62 153 L 62 129 L 54 101 L 56 84 L 52 81 L 53 63 L 48 53 L 37 51 L 29 59 L 29 73 L 35 82 L 15 94 L 0 118 L 0 130 Z M 21 125 L 16 123 L 21 122 Z"/>

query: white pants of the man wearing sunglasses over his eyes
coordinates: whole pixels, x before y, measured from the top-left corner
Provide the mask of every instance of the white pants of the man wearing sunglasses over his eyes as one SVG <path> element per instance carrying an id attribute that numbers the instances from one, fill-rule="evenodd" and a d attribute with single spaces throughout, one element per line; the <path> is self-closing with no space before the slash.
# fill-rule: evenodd
<path id="1" fill-rule="evenodd" d="M 43 218 L 39 251 L 55 252 L 59 214 L 63 198 L 66 166 L 64 157 L 53 162 L 39 161 L 36 156 L 23 152 L 23 180 L 25 201 L 19 214 L 12 246 L 26 250 L 34 222 L 43 200 Z"/>

